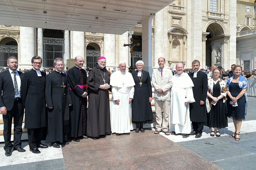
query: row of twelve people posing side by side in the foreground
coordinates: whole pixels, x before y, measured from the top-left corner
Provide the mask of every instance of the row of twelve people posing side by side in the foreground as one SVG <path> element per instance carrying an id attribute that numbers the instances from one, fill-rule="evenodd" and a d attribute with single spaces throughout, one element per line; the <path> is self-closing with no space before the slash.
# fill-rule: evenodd
<path id="1" fill-rule="evenodd" d="M 8 68 L 0 73 L 0 113 L 4 122 L 4 150 L 11 156 L 21 147 L 22 121 L 30 151 L 38 148 L 59 148 L 89 137 L 98 139 L 115 133 L 129 135 L 145 132 L 143 125 L 153 123 L 151 101 L 155 102 L 156 129 L 154 134 L 181 134 L 184 138 L 200 138 L 203 125 L 211 128 L 210 136 L 221 135 L 220 129 L 233 119 L 235 132 L 230 135 L 240 140 L 240 128 L 245 119 L 248 87 L 241 75 L 242 67 L 233 64 L 232 71 L 223 75 L 221 68 L 212 66 L 208 75 L 201 71 L 200 61 L 192 62 L 186 72 L 183 63 L 176 64 L 175 74 L 165 67 L 165 58 L 158 59 L 159 68 L 152 73 L 143 70 L 144 62 L 136 62 L 137 70 L 129 73 L 120 61 L 117 71 L 106 69 L 106 58 L 100 57 L 89 73 L 83 69 L 84 59 L 77 56 L 75 66 L 65 74 L 63 60 L 54 60 L 55 70 L 41 71 L 42 58 L 31 59 L 30 71 L 18 71 L 18 60 L 9 57 Z M 223 76 L 229 76 L 227 83 Z M 152 97 L 152 86 L 154 97 Z M 109 92 L 112 98 L 109 103 Z M 88 109 L 87 109 L 88 104 Z M 11 143 L 12 119 L 14 141 Z M 191 122 L 191 123 L 190 123 Z M 192 130 L 191 130 L 192 124 Z M 216 132 L 215 129 L 217 128 Z"/>

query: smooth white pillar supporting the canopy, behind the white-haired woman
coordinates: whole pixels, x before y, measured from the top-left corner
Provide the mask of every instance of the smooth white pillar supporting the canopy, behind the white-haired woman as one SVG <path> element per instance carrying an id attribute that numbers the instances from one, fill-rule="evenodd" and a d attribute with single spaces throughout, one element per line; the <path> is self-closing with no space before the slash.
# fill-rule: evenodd
<path id="1" fill-rule="evenodd" d="M 142 60 L 144 70 L 152 75 L 152 19 L 151 15 L 142 21 Z"/>

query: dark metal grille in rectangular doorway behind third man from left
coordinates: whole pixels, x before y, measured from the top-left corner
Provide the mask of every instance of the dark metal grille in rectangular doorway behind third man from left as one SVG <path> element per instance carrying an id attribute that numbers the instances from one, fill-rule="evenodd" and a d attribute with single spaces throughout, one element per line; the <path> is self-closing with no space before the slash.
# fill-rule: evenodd
<path id="1" fill-rule="evenodd" d="M 54 68 L 54 60 L 63 60 L 65 44 L 63 38 L 43 38 L 44 56 L 43 65 L 45 68 Z"/>

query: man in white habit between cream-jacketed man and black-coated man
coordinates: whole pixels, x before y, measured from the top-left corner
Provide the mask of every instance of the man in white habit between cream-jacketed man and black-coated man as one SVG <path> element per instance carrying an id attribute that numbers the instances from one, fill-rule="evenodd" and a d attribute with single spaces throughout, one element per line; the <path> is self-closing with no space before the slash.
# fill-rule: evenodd
<path id="1" fill-rule="evenodd" d="M 172 77 L 169 129 L 171 134 L 182 134 L 186 138 L 191 132 L 189 103 L 195 102 L 195 99 L 192 90 L 194 84 L 183 70 L 183 63 L 177 63 L 177 74 Z"/>

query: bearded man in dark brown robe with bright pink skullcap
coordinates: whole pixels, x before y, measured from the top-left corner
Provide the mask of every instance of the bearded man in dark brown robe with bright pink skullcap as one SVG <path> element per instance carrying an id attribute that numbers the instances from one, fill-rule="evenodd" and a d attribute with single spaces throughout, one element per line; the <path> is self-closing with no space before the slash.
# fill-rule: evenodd
<path id="1" fill-rule="evenodd" d="M 106 69 L 106 58 L 100 57 L 89 72 L 87 85 L 90 89 L 87 135 L 96 139 L 111 134 L 109 94 L 110 74 Z"/>

